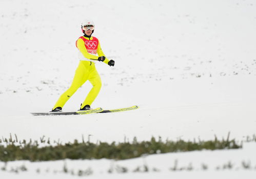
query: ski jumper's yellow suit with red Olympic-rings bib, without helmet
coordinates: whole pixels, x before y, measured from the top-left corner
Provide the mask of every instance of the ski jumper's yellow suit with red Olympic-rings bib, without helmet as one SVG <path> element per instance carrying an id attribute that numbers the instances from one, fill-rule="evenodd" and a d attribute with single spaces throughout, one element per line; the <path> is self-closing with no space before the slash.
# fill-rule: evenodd
<path id="1" fill-rule="evenodd" d="M 96 37 L 89 38 L 81 36 L 76 41 L 76 47 L 78 49 L 78 59 L 80 59 L 80 63 L 75 70 L 73 82 L 69 89 L 60 96 L 53 109 L 55 109 L 56 107 L 63 108 L 69 98 L 87 80 L 89 80 L 92 84 L 92 89 L 85 98 L 85 101 L 82 103 L 81 109 L 86 105 L 91 106 L 92 102 L 95 100 L 101 90 L 101 77 L 97 72 L 94 63 L 94 59 L 98 59 L 99 56 L 105 56 L 101 49 L 99 40 Z M 105 58 L 104 63 L 108 64 L 108 62 L 109 59 Z"/>

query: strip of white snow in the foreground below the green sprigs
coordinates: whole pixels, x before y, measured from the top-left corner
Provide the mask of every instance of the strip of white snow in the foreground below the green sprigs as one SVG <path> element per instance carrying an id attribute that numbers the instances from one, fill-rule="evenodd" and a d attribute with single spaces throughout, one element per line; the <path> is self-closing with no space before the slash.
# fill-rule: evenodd
<path id="1" fill-rule="evenodd" d="M 247 143 L 243 149 L 154 154 L 123 161 L 18 161 L 8 162 L 6 171 L 0 171 L 0 174 L 5 178 L 15 175 L 31 178 L 75 178 L 81 170 L 84 171 L 83 176 L 92 178 L 255 178 L 256 156 L 251 155 L 255 149 L 255 143 Z M 0 166 L 4 167 L 5 164 L 0 162 Z M 20 169 L 22 166 L 26 171 Z"/>

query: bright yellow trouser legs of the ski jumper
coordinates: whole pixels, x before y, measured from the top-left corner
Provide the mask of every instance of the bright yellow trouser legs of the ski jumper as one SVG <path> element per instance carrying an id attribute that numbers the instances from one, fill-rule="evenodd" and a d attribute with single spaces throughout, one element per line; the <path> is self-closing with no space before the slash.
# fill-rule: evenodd
<path id="1" fill-rule="evenodd" d="M 61 97 L 58 99 L 57 103 L 54 105 L 53 109 L 56 107 L 62 107 L 69 100 L 69 98 L 75 93 L 75 91 L 80 88 L 87 80 L 92 84 L 92 89 L 88 93 L 85 101 L 83 102 L 81 109 L 85 105 L 91 105 L 99 94 L 102 86 L 101 77 L 95 68 L 95 64 L 89 61 L 80 61 L 77 69 L 75 70 L 75 75 L 70 88 L 65 91 Z"/>

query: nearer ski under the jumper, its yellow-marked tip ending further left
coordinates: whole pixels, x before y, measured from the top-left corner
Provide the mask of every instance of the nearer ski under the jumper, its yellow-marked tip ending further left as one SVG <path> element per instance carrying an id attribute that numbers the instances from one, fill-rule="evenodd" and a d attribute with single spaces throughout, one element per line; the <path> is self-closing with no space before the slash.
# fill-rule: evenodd
<path id="1" fill-rule="evenodd" d="M 85 111 L 70 111 L 70 112 L 32 112 L 32 115 L 76 115 L 76 114 L 92 114 L 103 111 L 102 108 L 95 108 Z"/>

